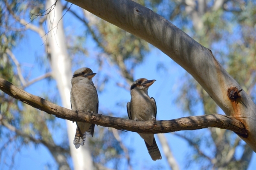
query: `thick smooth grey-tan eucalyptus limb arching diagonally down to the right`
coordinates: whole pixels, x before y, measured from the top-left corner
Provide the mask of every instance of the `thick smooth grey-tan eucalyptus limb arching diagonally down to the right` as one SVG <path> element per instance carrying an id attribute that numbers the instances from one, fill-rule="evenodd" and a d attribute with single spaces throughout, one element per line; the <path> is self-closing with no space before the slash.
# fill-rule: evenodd
<path id="1" fill-rule="evenodd" d="M 67 0 L 125 31 L 134 34 L 172 58 L 188 71 L 228 116 L 247 127 L 243 139 L 256 152 L 256 105 L 241 91 L 241 98 L 231 101 L 227 90 L 241 86 L 212 55 L 165 18 L 131 0 Z"/>

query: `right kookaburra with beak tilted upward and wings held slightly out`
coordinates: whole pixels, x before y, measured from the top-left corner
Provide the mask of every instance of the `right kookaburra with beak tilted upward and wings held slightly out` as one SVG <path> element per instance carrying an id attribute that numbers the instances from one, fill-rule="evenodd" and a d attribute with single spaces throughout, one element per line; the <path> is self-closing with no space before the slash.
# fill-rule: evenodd
<path id="1" fill-rule="evenodd" d="M 128 102 L 127 113 L 129 119 L 136 121 L 156 121 L 157 105 L 153 97 L 148 96 L 148 87 L 156 80 L 137 79 L 131 85 L 131 102 Z M 154 134 L 138 133 L 145 141 L 148 153 L 154 161 L 162 159 L 161 153 L 154 139 Z"/>

